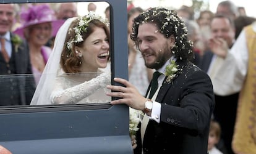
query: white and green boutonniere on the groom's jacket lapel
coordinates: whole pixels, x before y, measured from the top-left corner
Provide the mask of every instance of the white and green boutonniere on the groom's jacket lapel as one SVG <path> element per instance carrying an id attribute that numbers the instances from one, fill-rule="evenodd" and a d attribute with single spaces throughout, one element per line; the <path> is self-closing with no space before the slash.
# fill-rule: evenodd
<path id="1" fill-rule="evenodd" d="M 179 65 L 176 64 L 175 60 L 170 60 L 169 62 L 169 65 L 167 65 L 165 68 L 165 76 L 167 76 L 167 83 L 171 83 L 171 80 L 177 76 L 177 71 L 179 70 Z"/>

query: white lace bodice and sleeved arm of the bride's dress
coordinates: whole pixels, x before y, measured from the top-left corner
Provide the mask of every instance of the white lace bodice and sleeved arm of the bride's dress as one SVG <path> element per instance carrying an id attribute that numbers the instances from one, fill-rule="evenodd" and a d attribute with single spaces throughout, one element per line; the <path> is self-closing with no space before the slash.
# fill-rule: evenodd
<path id="1" fill-rule="evenodd" d="M 111 97 L 106 95 L 108 89 L 106 85 L 111 84 L 109 73 L 95 74 L 75 74 L 62 75 L 56 79 L 53 92 L 51 93 L 51 103 L 106 103 L 111 101 Z"/>

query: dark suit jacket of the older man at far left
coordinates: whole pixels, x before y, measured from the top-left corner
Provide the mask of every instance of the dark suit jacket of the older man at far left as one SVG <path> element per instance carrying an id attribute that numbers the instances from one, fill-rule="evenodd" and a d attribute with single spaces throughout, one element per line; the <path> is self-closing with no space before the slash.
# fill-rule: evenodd
<path id="1" fill-rule="evenodd" d="M 14 34 L 11 33 L 11 40 L 13 37 Z M 28 45 L 23 42 L 19 47 L 15 47 L 12 43 L 9 63 L 6 63 L 0 54 L 0 106 L 30 104 L 33 92 L 35 92 L 35 81 Z"/>

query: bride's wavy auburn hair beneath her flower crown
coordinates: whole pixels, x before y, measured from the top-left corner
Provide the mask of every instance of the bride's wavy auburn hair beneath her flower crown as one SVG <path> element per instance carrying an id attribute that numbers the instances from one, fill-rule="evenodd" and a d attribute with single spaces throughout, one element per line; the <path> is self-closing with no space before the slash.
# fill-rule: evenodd
<path id="1" fill-rule="evenodd" d="M 103 30 L 106 33 L 106 36 L 108 37 L 108 40 L 110 40 L 110 33 L 109 33 L 109 28 L 108 26 L 101 22 L 100 20 L 94 19 L 92 20 L 88 26 L 87 26 L 87 31 L 85 32 L 81 32 L 82 38 L 84 41 L 79 42 L 79 43 L 74 43 L 74 46 L 71 47 L 71 49 L 67 48 L 67 42 L 72 40 L 73 38 L 75 38 L 75 30 L 73 30 L 73 28 L 75 26 L 78 26 L 80 22 L 80 18 L 77 18 L 76 20 L 74 20 L 70 27 L 69 30 L 67 32 L 66 35 L 66 39 L 65 39 L 65 43 L 64 43 L 64 47 L 62 49 L 62 53 L 61 53 L 61 67 L 62 69 L 66 72 L 66 73 L 80 73 L 80 57 L 78 57 L 75 54 L 75 46 L 79 46 L 82 47 L 84 41 L 88 38 L 88 36 L 90 36 L 90 34 L 93 33 L 93 31 L 95 31 L 96 27 L 100 27 L 103 28 Z"/>

